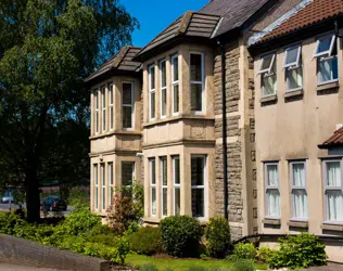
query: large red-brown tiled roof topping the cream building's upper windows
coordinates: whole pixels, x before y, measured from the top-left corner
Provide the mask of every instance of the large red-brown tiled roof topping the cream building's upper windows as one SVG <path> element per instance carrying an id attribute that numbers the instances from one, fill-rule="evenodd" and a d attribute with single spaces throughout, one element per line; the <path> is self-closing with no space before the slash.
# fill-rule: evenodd
<path id="1" fill-rule="evenodd" d="M 314 0 L 272 31 L 264 36 L 257 43 L 284 36 L 341 14 L 343 14 L 343 0 Z"/>

